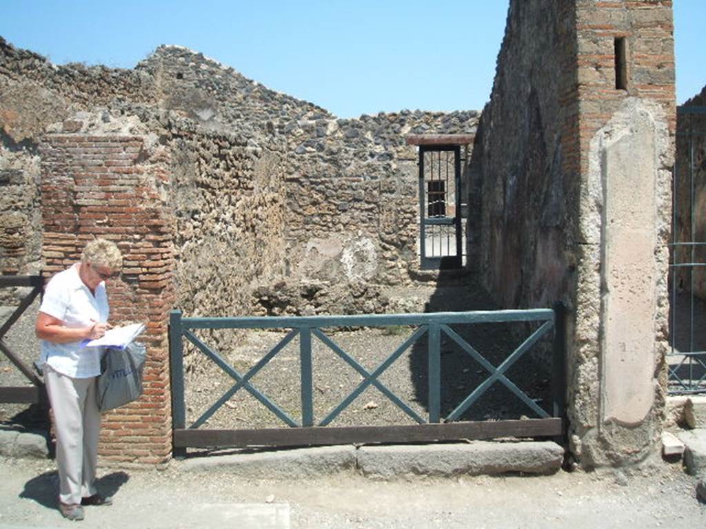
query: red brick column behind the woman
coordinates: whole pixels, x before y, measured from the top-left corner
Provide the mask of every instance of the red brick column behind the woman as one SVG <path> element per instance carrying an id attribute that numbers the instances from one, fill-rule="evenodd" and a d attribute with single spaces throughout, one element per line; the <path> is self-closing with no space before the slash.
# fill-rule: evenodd
<path id="1" fill-rule="evenodd" d="M 80 260 L 93 236 L 124 256 L 108 281 L 110 322 L 145 322 L 145 391 L 104 415 L 102 461 L 159 463 L 172 451 L 167 324 L 174 303 L 169 210 L 160 199 L 167 171 L 145 162 L 139 136 L 51 134 L 42 144 L 44 276 Z"/>

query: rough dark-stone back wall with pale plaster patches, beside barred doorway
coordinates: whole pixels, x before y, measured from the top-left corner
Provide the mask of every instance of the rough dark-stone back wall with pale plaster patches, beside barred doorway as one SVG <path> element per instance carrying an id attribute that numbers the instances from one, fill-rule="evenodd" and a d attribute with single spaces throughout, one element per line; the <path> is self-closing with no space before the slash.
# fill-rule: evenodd
<path id="1" fill-rule="evenodd" d="M 419 269 L 417 154 L 405 135 L 474 132 L 477 112 L 339 119 L 182 47 L 160 47 L 137 69 L 155 78 L 162 109 L 271 153 L 263 163 L 285 199 L 286 252 L 273 265 L 278 279 L 248 283 L 254 312 L 401 308 L 383 290 L 411 283 Z"/>

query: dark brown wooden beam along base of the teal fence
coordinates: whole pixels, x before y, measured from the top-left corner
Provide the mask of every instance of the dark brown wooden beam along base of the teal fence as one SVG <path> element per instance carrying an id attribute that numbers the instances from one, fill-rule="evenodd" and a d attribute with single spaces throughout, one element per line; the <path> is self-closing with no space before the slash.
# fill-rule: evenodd
<path id="1" fill-rule="evenodd" d="M 559 437 L 562 434 L 562 420 L 556 417 L 404 426 L 177 429 L 174 430 L 174 448 L 438 442 L 498 437 Z"/>

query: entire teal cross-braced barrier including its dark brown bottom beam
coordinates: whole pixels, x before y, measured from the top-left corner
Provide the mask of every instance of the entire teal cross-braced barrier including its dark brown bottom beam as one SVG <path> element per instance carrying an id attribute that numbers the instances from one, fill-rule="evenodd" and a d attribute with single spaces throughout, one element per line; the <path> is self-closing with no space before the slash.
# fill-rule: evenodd
<path id="1" fill-rule="evenodd" d="M 539 322 L 539 329 L 527 336 L 519 347 L 508 355 L 500 365 L 492 365 L 462 339 L 450 325 L 485 324 L 494 322 Z M 174 310 L 169 324 L 169 351 L 172 371 L 172 420 L 174 427 L 174 455 L 184 454 L 187 446 L 248 446 L 258 445 L 306 445 L 306 444 L 342 444 L 352 442 L 410 442 L 444 439 L 479 439 L 514 435 L 516 437 L 558 437 L 563 432 L 563 396 L 564 353 L 563 353 L 563 313 L 561 308 L 554 310 L 498 310 L 477 312 L 439 312 L 407 315 L 355 315 L 355 316 L 318 316 L 318 317 L 182 317 L 179 310 Z M 411 326 L 416 330 L 376 369 L 369 371 L 351 355 L 326 336 L 322 329 L 330 327 L 388 327 Z M 229 365 L 217 351 L 204 343 L 193 333 L 196 329 L 291 329 L 276 346 L 246 373 L 238 372 Z M 547 411 L 530 399 L 508 379 L 508 369 L 530 351 L 532 346 L 544 335 L 554 329 L 554 402 Z M 407 403 L 390 391 L 381 382 L 382 373 L 395 362 L 421 336 L 428 335 L 428 416 L 421 417 Z M 447 416 L 441 416 L 441 336 L 444 334 L 473 358 L 489 373 L 485 381 L 479 384 Z M 301 377 L 301 422 L 283 411 L 268 396 L 251 383 L 251 379 L 287 343 L 299 336 L 299 364 Z M 333 353 L 338 355 L 363 378 L 359 385 L 343 399 L 325 417 L 315 420 L 313 414 L 312 391 L 312 339 L 320 340 Z M 186 425 L 186 406 L 184 402 L 184 339 L 193 343 L 204 355 L 213 360 L 229 377 L 234 379 L 233 386 L 217 399 L 193 424 Z M 455 422 L 475 403 L 494 382 L 504 384 L 517 398 L 532 410 L 537 419 L 500 420 L 479 422 Z M 367 387 L 374 386 L 390 401 L 412 418 L 417 425 L 393 427 L 330 427 L 327 425 Z M 238 391 L 248 391 L 258 401 L 287 425 L 287 428 L 261 428 L 256 430 L 197 430 L 221 406 Z"/>

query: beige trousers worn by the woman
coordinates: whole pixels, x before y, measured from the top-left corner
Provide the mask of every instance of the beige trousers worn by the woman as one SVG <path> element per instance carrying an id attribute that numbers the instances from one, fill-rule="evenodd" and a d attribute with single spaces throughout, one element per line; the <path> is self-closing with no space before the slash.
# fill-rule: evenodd
<path id="1" fill-rule="evenodd" d="M 54 416 L 59 501 L 80 504 L 96 493 L 100 411 L 95 377 L 71 378 L 44 365 L 44 383 Z"/>

